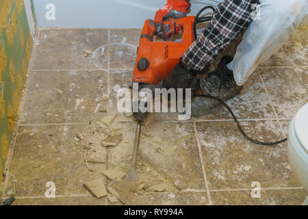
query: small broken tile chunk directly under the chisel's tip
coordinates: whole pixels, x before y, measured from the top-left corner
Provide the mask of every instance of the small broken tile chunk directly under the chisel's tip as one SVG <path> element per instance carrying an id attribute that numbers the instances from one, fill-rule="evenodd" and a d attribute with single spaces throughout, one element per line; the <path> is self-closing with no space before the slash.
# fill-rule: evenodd
<path id="1" fill-rule="evenodd" d="M 110 185 L 107 186 L 108 192 L 118 198 L 121 203 L 125 204 L 127 202 L 127 197 L 133 188 L 133 182 L 119 180 L 112 181 Z"/>

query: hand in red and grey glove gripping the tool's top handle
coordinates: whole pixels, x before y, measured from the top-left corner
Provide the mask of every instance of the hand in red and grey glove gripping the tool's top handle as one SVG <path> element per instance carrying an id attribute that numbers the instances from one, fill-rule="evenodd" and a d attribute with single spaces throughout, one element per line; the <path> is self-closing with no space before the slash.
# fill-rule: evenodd
<path id="1" fill-rule="evenodd" d="M 190 8 L 190 0 L 167 0 L 166 5 L 156 12 L 154 23 L 155 23 L 155 35 L 159 38 L 165 39 L 168 36 L 168 31 L 171 31 L 172 27 L 163 26 L 163 22 L 168 18 L 178 19 L 186 16 L 186 11 Z M 177 25 L 173 26 L 176 27 Z M 165 31 L 166 29 L 166 31 Z M 166 32 L 166 34 L 164 34 Z M 176 31 L 174 31 L 175 34 Z"/>

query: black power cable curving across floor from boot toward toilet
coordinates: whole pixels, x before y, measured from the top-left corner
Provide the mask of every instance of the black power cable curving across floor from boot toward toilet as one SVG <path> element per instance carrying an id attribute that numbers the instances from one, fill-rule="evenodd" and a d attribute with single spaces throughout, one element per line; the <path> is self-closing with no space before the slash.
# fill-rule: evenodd
<path id="1" fill-rule="evenodd" d="M 227 108 L 227 110 L 229 110 L 231 116 L 233 117 L 236 125 L 238 125 L 238 129 L 240 130 L 240 132 L 242 133 L 242 135 L 247 139 L 249 140 L 250 142 L 253 142 L 255 144 L 261 144 L 261 145 L 266 145 L 266 146 L 272 146 L 272 145 L 275 145 L 275 144 L 280 144 L 282 142 L 286 142 L 287 141 L 287 138 L 283 138 L 277 142 L 260 142 L 260 141 L 257 141 L 257 140 L 254 140 L 253 138 L 247 136 L 247 134 L 244 132 L 244 130 L 242 129 L 239 121 L 238 121 L 238 118 L 236 118 L 235 114 L 233 113 L 233 111 L 231 110 L 231 108 L 229 107 L 229 105 L 227 105 L 227 103 L 224 103 L 224 101 L 222 101 L 222 99 L 218 98 L 217 96 L 211 96 L 211 95 L 207 95 L 207 94 L 195 94 L 194 96 L 198 96 L 198 97 L 205 97 L 207 99 L 214 99 L 218 102 L 220 102 L 222 105 L 224 105 L 224 107 Z"/>

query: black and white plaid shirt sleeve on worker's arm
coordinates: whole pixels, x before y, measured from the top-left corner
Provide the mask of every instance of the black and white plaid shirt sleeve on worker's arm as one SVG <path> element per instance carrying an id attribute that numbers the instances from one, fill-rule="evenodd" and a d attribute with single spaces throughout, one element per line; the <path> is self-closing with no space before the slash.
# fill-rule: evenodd
<path id="1" fill-rule="evenodd" d="M 216 8 L 209 26 L 182 55 L 192 70 L 203 70 L 250 25 L 259 0 L 225 0 Z"/>

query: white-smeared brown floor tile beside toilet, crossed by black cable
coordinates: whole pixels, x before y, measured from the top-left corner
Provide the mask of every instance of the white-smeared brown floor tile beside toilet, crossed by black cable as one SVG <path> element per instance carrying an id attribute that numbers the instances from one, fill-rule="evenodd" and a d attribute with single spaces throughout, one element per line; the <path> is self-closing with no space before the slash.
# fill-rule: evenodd
<path id="1" fill-rule="evenodd" d="M 256 140 L 283 137 L 277 122 L 241 122 Z M 251 188 L 257 181 L 263 188 L 300 186 L 287 159 L 287 144 L 261 146 L 248 142 L 235 123 L 197 123 L 209 189 Z"/>

